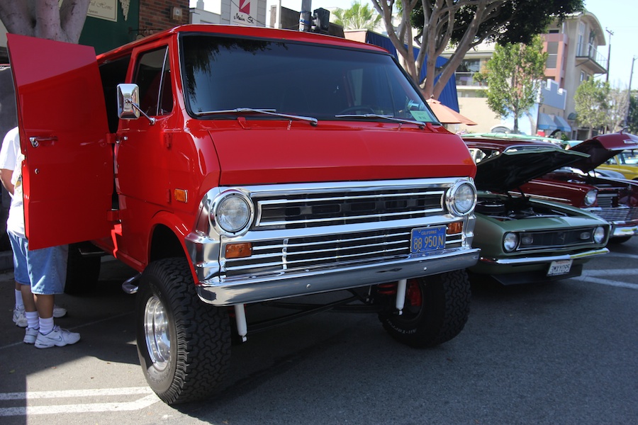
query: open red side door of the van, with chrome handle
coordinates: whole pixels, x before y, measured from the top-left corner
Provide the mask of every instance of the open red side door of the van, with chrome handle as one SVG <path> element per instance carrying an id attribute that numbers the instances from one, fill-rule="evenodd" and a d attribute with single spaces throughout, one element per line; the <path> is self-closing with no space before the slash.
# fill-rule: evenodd
<path id="1" fill-rule="evenodd" d="M 7 34 L 30 249 L 108 237 L 113 153 L 93 47 Z"/>

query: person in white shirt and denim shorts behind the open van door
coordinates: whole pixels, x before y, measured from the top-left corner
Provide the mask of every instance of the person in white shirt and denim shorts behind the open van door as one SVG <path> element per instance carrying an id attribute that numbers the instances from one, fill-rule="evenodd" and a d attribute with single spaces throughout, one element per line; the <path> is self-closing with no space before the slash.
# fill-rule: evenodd
<path id="1" fill-rule="evenodd" d="M 6 133 L 0 149 L 0 181 L 11 193 L 7 234 L 13 249 L 13 273 L 16 288 L 22 295 L 26 330 L 23 341 L 36 348 L 75 344 L 80 334 L 55 326 L 55 294 L 64 292 L 67 274 L 68 245 L 30 250 L 24 225 L 22 162 L 20 133 L 13 128 Z M 16 297 L 16 307 L 18 300 Z M 19 317 L 16 317 L 16 324 Z M 18 324 L 20 326 L 20 324 Z"/>

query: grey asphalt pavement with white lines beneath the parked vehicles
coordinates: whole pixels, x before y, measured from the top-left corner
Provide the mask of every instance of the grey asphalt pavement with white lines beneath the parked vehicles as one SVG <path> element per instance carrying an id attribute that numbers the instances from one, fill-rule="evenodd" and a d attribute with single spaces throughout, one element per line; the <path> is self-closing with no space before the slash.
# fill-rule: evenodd
<path id="1" fill-rule="evenodd" d="M 324 313 L 233 348 L 225 390 L 169 407 L 135 349 L 133 271 L 105 261 L 99 288 L 62 295 L 74 346 L 38 350 L 13 326 L 0 275 L 1 424 L 635 424 L 638 238 L 580 278 L 473 284 L 464 331 L 442 346 L 394 342 L 370 315 Z"/>

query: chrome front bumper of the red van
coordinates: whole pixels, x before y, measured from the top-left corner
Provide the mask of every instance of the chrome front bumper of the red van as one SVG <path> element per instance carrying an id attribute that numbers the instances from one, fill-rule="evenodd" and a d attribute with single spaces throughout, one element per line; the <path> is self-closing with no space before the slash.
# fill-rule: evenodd
<path id="1" fill-rule="evenodd" d="M 198 285 L 201 300 L 212 305 L 236 305 L 284 297 L 357 288 L 399 279 L 428 276 L 474 266 L 479 249 L 449 249 L 444 254 L 407 256 L 392 261 L 276 273 L 255 278 L 216 278 Z"/>

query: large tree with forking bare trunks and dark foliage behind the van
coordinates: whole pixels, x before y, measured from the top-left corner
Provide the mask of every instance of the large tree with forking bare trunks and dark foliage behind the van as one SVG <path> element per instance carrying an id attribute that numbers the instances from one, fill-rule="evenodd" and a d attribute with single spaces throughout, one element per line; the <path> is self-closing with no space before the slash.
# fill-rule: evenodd
<path id="1" fill-rule="evenodd" d="M 472 47 L 483 41 L 507 45 L 528 43 L 543 33 L 554 21 L 580 11 L 583 0 L 371 0 L 383 16 L 388 37 L 401 57 L 405 70 L 423 83 L 426 97 L 437 98 L 447 81 Z M 393 26 L 393 8 L 401 15 L 401 23 Z M 418 33 L 413 34 L 413 26 Z M 418 57 L 411 46 L 420 47 Z M 449 61 L 437 69 L 436 59 L 450 45 L 456 50 Z M 427 61 L 425 57 L 427 55 Z M 425 64 L 424 64 L 425 62 Z M 420 81 L 422 67 L 427 78 Z M 435 84 L 435 77 L 439 76 Z"/>

